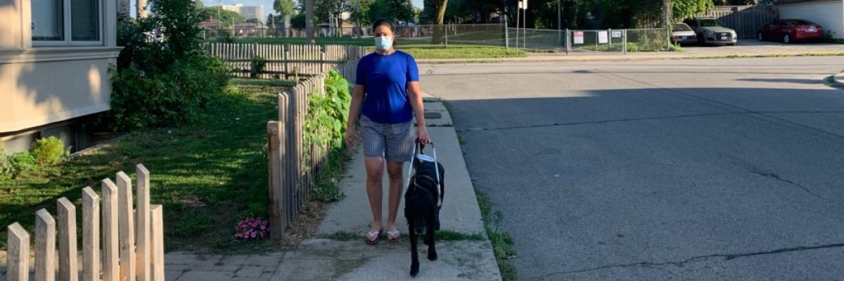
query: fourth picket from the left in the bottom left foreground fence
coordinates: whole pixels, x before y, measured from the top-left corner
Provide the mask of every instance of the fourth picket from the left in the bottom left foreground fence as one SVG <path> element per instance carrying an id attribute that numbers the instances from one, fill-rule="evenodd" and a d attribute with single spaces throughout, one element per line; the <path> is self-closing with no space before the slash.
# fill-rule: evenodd
<path id="1" fill-rule="evenodd" d="M 100 196 L 90 186 L 82 190 L 82 278 L 100 279 Z"/>

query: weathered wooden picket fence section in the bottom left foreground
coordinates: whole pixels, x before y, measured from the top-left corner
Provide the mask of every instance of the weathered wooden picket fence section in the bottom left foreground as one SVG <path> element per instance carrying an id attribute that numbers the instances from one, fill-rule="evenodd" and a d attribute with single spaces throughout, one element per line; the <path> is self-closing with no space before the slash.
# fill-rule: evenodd
<path id="1" fill-rule="evenodd" d="M 82 190 L 84 281 L 165 279 L 163 208 L 149 204 L 149 170 L 137 165 L 136 171 L 134 210 L 132 180 L 123 172 L 117 173 L 116 184 L 102 180 L 101 204 L 90 186 Z M 76 217 L 76 207 L 66 197 L 57 200 L 57 219 L 43 208 L 35 212 L 36 281 L 56 280 L 56 269 L 59 280 L 78 280 Z M 8 225 L 6 280 L 29 280 L 29 259 L 30 234 L 18 223 Z"/>

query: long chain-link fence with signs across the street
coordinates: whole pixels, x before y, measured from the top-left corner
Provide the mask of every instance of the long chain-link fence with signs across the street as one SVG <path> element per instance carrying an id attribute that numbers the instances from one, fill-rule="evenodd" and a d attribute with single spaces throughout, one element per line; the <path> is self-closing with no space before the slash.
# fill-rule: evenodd
<path id="1" fill-rule="evenodd" d="M 403 45 L 505 46 L 541 52 L 636 52 L 668 51 L 665 29 L 630 30 L 540 30 L 506 28 L 504 24 L 405 25 L 394 30 Z M 371 27 L 315 29 L 317 38 L 371 38 Z M 235 28 L 205 29 L 207 40 L 217 37 L 285 38 L 305 37 L 304 29 Z"/>

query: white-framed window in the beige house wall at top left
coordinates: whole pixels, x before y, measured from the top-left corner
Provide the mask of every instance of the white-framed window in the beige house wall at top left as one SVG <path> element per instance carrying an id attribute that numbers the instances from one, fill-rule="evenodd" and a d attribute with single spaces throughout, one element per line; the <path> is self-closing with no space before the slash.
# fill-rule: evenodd
<path id="1" fill-rule="evenodd" d="M 33 46 L 102 46 L 100 0 L 31 0 Z"/>

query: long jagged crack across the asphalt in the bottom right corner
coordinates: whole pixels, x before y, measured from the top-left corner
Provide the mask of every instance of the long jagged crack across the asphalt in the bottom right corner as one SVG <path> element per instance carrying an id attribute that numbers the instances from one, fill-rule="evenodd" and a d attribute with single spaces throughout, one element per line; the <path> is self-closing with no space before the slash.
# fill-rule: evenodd
<path id="1" fill-rule="evenodd" d="M 755 251 L 755 252 L 739 253 L 739 254 L 711 254 L 711 255 L 706 255 L 706 256 L 690 257 L 690 258 L 685 259 L 685 260 L 680 261 L 680 262 L 633 262 L 633 263 L 610 264 L 610 265 L 606 265 L 606 266 L 602 266 L 602 267 L 590 267 L 590 268 L 571 270 L 571 271 L 559 271 L 559 272 L 554 272 L 554 273 L 546 273 L 546 274 L 543 274 L 543 275 L 539 275 L 539 276 L 536 276 L 536 277 L 530 277 L 530 278 L 527 278 L 527 279 L 533 279 L 533 280 L 544 279 L 544 278 L 549 278 L 549 277 L 557 275 L 557 274 L 586 273 L 586 272 L 595 271 L 595 270 L 602 270 L 602 269 L 608 269 L 608 268 L 619 268 L 619 267 L 621 267 L 621 268 L 623 268 L 623 267 L 660 267 L 660 266 L 665 266 L 665 265 L 674 265 L 674 266 L 681 267 L 685 263 L 688 263 L 688 262 L 695 262 L 697 260 L 705 260 L 705 259 L 711 259 L 711 258 L 722 258 L 722 259 L 724 259 L 724 261 L 730 261 L 730 260 L 733 260 L 733 259 L 738 258 L 738 257 L 753 257 L 753 256 L 760 256 L 760 255 L 779 254 L 779 253 L 792 252 L 792 251 L 809 251 L 809 250 L 837 248 L 837 247 L 844 247 L 844 243 L 827 244 L 827 245 L 821 245 L 821 246 L 797 246 L 797 247 L 791 247 L 791 248 L 776 249 L 776 250 L 771 250 L 771 251 Z"/>

